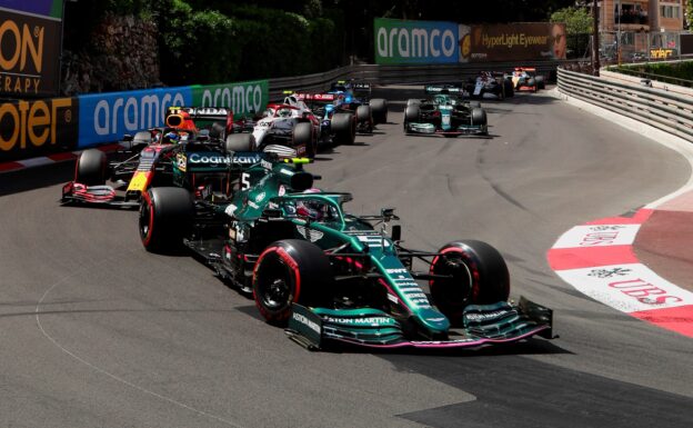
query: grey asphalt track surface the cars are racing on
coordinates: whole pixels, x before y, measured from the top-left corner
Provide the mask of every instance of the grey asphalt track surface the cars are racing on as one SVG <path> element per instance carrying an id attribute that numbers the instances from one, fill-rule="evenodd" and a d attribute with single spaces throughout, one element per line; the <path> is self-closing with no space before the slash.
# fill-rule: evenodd
<path id="1" fill-rule="evenodd" d="M 485 102 L 489 138 L 389 123 L 323 150 L 320 187 L 351 211 L 396 207 L 403 239 L 481 239 L 512 297 L 555 310 L 560 338 L 458 352 L 309 352 L 189 257 L 139 243 L 137 213 L 60 207 L 72 165 L 0 176 L 2 427 L 691 427 L 693 340 L 563 282 L 565 230 L 683 186 L 679 153 L 546 93 Z M 671 223 L 667 223 L 671 227 Z"/>

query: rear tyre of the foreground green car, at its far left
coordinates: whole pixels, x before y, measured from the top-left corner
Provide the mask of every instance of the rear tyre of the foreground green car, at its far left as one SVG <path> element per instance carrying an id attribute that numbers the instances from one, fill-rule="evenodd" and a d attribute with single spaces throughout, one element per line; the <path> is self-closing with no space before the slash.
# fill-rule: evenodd
<path id="1" fill-rule="evenodd" d="M 190 235 L 194 200 L 179 187 L 154 187 L 142 195 L 139 229 L 142 245 L 151 252 L 172 252 Z"/>

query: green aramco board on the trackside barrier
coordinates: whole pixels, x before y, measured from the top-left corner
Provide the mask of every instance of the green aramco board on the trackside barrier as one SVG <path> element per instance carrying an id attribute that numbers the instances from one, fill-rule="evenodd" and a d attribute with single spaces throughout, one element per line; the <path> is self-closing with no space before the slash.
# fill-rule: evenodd
<path id="1" fill-rule="evenodd" d="M 268 80 L 221 84 L 195 84 L 192 104 L 195 107 L 227 107 L 234 116 L 249 116 L 263 111 L 269 102 Z"/>

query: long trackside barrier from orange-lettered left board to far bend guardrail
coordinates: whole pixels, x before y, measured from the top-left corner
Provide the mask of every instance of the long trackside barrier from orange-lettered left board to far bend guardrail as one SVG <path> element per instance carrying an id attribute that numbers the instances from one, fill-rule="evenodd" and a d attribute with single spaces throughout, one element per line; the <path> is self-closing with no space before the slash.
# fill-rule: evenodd
<path id="1" fill-rule="evenodd" d="M 518 66 L 535 67 L 539 72 L 553 76 L 556 67 L 566 62 L 570 61 L 353 64 L 321 73 L 271 80 L 92 93 L 68 99 L 21 101 L 17 106 L 2 103 L 0 163 L 120 140 L 124 133 L 161 126 L 165 108 L 177 103 L 231 107 L 234 112 L 243 115 L 264 109 L 269 100 L 281 99 L 283 90 L 322 91 L 340 79 L 379 84 L 460 82 L 480 71 L 508 72 Z M 61 107 L 58 100 L 70 100 L 70 107 Z M 50 106 L 56 106 L 56 110 L 51 110 Z M 44 139 L 44 135 L 49 137 Z"/>

